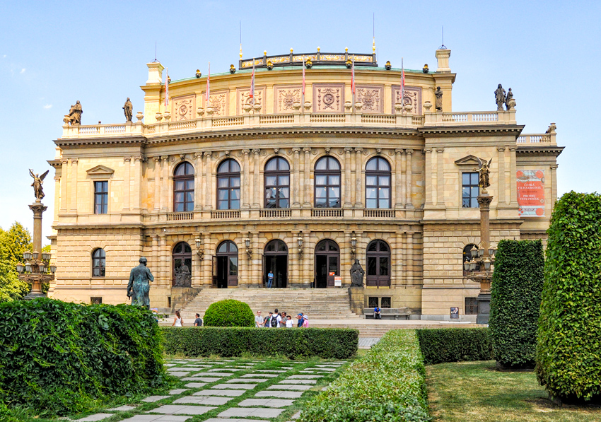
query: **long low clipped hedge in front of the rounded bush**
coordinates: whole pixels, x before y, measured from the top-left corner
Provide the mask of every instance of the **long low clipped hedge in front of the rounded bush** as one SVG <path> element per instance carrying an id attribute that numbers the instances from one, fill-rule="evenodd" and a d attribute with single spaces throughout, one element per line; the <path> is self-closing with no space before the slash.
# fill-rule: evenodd
<path id="1" fill-rule="evenodd" d="M 358 345 L 356 329 L 161 327 L 165 353 L 185 356 L 242 356 L 243 353 L 288 358 L 318 356 L 346 359 Z"/>

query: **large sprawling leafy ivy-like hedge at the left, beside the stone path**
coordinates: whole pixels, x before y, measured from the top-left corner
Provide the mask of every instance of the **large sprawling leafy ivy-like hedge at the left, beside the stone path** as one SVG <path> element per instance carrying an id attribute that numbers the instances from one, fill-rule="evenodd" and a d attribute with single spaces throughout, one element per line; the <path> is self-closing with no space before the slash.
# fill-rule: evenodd
<path id="1" fill-rule="evenodd" d="M 165 384 L 158 324 L 128 305 L 0 304 L 0 402 L 40 415 Z"/>

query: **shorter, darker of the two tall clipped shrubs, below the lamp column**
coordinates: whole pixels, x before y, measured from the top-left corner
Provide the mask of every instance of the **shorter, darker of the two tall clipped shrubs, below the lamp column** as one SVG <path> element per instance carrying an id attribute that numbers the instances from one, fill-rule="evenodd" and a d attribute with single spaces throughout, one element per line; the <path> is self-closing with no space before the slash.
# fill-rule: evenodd
<path id="1" fill-rule="evenodd" d="M 501 240 L 491 285 L 489 329 L 502 368 L 534 368 L 544 280 L 540 240 Z"/>

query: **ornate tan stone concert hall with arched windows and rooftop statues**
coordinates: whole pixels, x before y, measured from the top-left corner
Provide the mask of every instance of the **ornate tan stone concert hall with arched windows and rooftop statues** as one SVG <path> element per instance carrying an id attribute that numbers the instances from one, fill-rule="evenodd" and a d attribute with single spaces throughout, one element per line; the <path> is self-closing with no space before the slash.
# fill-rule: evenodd
<path id="1" fill-rule="evenodd" d="M 165 89 L 148 63 L 134 122 L 84 113 L 54 141 L 49 295 L 125 303 L 144 256 L 153 306 L 266 288 L 270 271 L 276 305 L 281 289 L 349 287 L 358 259 L 365 307 L 473 314 L 479 284 L 462 263 L 480 242 L 478 158 L 492 159 L 492 242 L 544 239 L 563 147 L 554 124 L 523 134 L 515 103 L 496 110 L 498 81 L 483 93 L 496 111 L 453 110 L 449 59 L 438 49 L 436 70 L 404 69 L 403 98 L 399 64 L 375 54 L 240 59 L 211 74 L 208 98 L 206 75 Z"/>

